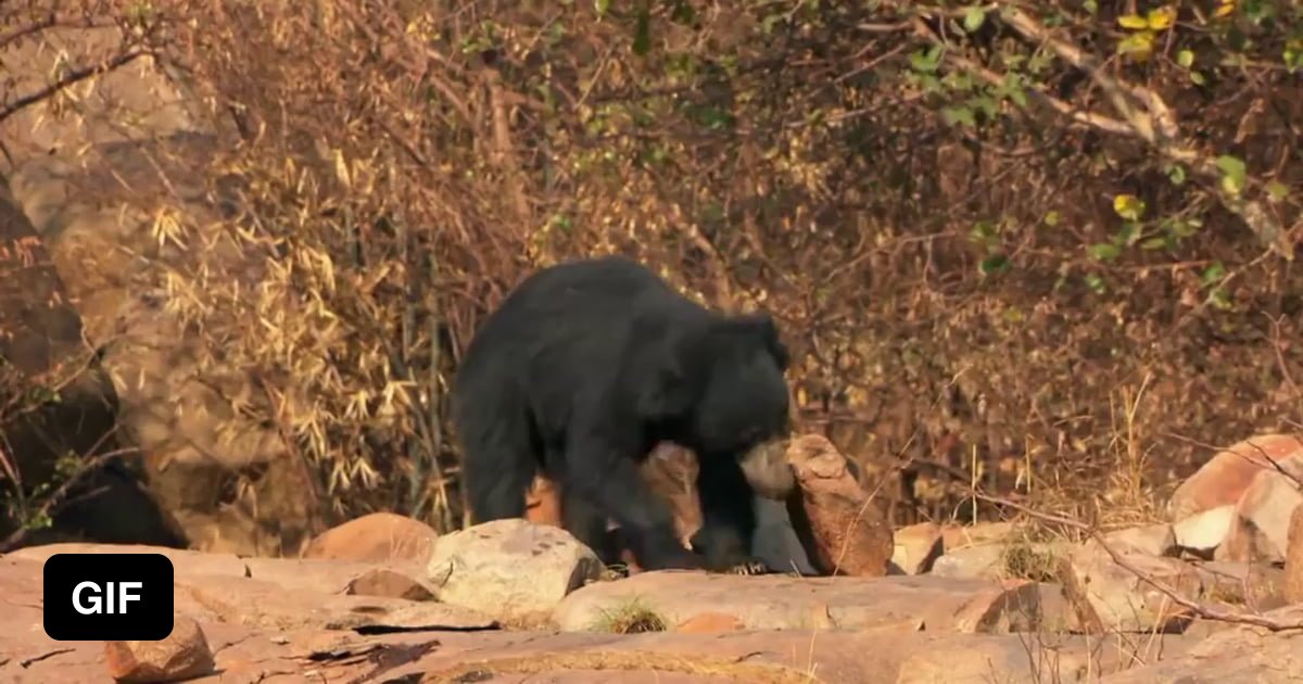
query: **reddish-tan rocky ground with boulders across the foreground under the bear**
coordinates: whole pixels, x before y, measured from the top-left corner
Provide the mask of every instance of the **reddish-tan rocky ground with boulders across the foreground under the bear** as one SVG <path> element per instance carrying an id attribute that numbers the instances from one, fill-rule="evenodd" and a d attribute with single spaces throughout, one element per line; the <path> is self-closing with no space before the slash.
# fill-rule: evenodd
<path id="1" fill-rule="evenodd" d="M 1173 524 L 1084 542 L 1029 541 L 1025 526 L 1010 522 L 913 525 L 887 535 L 890 559 L 880 568 L 865 560 L 881 556 L 865 547 L 880 532 L 818 532 L 840 513 L 805 477 L 805 508 L 822 516 L 812 525 L 816 545 L 860 545 L 842 554 L 860 559 L 853 571 L 822 577 L 612 578 L 589 549 L 549 524 L 506 520 L 438 537 L 390 513 L 328 530 L 298 559 L 36 546 L 0 558 L 8 606 L 0 677 L 1294 681 L 1303 679 L 1303 507 L 1290 474 L 1299 468 L 1298 440 L 1257 438 L 1182 485 L 1170 502 Z M 842 503 L 853 506 L 855 492 L 838 482 L 848 496 Z M 46 637 L 44 559 L 124 549 L 172 559 L 173 634 L 108 644 Z M 834 555 L 812 551 L 816 564 Z"/>

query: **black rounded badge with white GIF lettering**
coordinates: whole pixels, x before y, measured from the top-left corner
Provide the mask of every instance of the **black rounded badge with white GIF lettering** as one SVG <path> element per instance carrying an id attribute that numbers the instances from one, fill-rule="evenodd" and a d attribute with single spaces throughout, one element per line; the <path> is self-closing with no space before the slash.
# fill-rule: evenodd
<path id="1" fill-rule="evenodd" d="M 172 560 L 163 554 L 55 554 L 46 560 L 46 634 L 158 641 L 172 633 Z"/>

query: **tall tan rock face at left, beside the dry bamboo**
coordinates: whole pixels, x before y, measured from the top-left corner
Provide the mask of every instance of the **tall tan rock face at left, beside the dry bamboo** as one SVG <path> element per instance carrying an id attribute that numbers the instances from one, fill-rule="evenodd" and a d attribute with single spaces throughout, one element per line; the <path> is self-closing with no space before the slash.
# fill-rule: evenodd
<path id="1" fill-rule="evenodd" d="M 107 22 L 56 25 L 7 42 L 0 46 L 5 89 L 14 98 L 36 93 L 61 68 L 111 60 L 122 40 Z M 162 525 L 132 530 L 126 516 L 87 509 L 76 516 L 86 522 L 76 526 L 87 529 L 70 532 L 96 541 L 296 555 L 317 529 L 310 473 L 274 426 L 232 408 L 229 397 L 261 401 L 249 369 L 214 361 L 158 296 L 164 274 L 184 268 L 188 258 L 185 249 L 159 244 L 160 206 L 176 205 L 198 223 L 222 210 L 206 197 L 218 138 L 199 100 L 179 82 L 146 56 L 79 83 L 90 87 L 66 112 L 44 102 L 0 121 L 0 176 L 43 240 L 85 337 L 102 352 L 111 392 L 89 391 L 89 399 L 107 395 L 117 420 L 113 438 L 139 449 L 141 474 L 132 479 L 145 483 L 149 500 L 133 506 L 163 511 L 154 516 Z M 224 266 L 242 274 L 249 263 L 232 258 Z M 57 422 L 53 434 L 93 426 L 76 416 Z M 96 421 L 102 434 L 89 438 L 112 423 Z"/>

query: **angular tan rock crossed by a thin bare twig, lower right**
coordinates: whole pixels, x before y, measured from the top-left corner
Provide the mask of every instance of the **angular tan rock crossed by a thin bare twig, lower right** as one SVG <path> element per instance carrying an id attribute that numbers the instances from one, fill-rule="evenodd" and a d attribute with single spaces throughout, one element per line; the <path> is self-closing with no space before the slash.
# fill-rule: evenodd
<path id="1" fill-rule="evenodd" d="M 1165 582 L 1183 597 L 1199 599 L 1203 582 L 1187 563 L 1147 554 L 1118 554 L 1145 577 Z M 1092 633 L 1166 632 L 1186 625 L 1190 615 L 1170 597 L 1114 562 L 1098 546 L 1081 546 L 1063 559 L 1063 590 Z"/>

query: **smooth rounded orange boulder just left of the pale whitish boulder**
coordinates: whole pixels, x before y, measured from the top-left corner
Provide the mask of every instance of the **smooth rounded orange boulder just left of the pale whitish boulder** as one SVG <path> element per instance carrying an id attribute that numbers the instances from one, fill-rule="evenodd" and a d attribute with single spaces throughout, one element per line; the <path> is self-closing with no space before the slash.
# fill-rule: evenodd
<path id="1" fill-rule="evenodd" d="M 426 563 L 439 533 L 396 513 L 369 513 L 336 525 L 314 538 L 302 558 L 387 563 Z"/>

